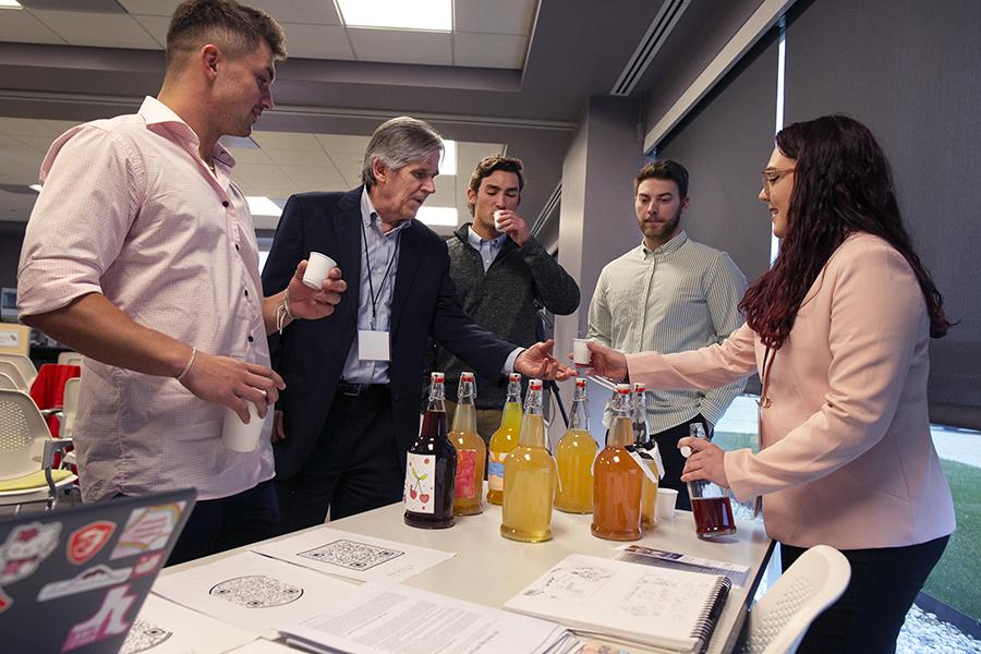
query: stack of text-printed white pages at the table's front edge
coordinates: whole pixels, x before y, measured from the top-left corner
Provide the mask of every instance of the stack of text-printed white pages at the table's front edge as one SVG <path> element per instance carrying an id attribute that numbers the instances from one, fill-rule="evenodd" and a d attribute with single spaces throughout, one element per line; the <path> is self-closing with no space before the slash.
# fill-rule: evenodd
<path id="1" fill-rule="evenodd" d="M 281 630 L 315 652 L 567 654 L 581 643 L 545 620 L 390 582 L 368 582 L 332 610 Z"/>

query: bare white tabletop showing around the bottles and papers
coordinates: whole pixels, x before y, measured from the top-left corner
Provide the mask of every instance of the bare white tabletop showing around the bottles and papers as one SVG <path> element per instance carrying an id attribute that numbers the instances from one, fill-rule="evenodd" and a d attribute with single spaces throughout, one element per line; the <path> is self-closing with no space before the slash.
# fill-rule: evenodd
<path id="1" fill-rule="evenodd" d="M 500 507 L 485 505 L 480 516 L 458 518 L 456 525 L 443 530 L 422 530 L 402 522 L 402 505 L 395 504 L 374 511 L 337 520 L 329 526 L 399 543 L 455 552 L 457 556 L 413 577 L 404 583 L 419 589 L 459 597 L 485 606 L 500 608 L 532 581 L 570 554 L 586 554 L 613 558 L 613 541 L 596 538 L 590 533 L 592 516 L 571 516 L 553 512 L 553 540 L 547 543 L 516 543 L 500 535 Z M 311 530 L 322 529 L 319 526 Z M 280 536 L 289 537 L 287 536 Z M 279 540 L 279 538 L 277 538 Z M 755 522 L 737 520 L 737 533 L 716 542 L 701 541 L 695 536 L 694 521 L 688 511 L 676 511 L 671 521 L 662 520 L 645 532 L 638 544 L 657 549 L 679 552 L 702 558 L 729 561 L 752 568 L 749 581 L 729 593 L 718 626 L 707 652 L 730 652 L 742 628 L 749 602 L 770 555 L 773 542 Z M 232 550 L 174 566 L 162 574 L 185 570 L 217 558 Z M 311 574 L 318 572 L 311 571 Z M 642 650 L 631 647 L 631 652 Z"/>

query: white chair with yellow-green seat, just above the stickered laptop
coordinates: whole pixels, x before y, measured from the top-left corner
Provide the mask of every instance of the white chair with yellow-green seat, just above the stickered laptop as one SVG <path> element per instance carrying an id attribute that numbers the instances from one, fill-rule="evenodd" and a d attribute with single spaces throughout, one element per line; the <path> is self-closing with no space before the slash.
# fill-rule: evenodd
<path id="1" fill-rule="evenodd" d="M 37 404 L 25 392 L 0 390 L 0 506 L 44 501 L 50 509 L 62 489 L 77 480 L 53 467 L 55 455 L 72 446 L 55 440 Z"/>

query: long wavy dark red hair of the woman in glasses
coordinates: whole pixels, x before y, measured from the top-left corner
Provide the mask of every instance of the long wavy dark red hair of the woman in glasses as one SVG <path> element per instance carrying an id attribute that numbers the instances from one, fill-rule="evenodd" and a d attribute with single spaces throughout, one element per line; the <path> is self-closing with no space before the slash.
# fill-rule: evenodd
<path id="1" fill-rule="evenodd" d="M 784 344 L 811 284 L 856 232 L 880 237 L 903 254 L 923 291 L 930 336 L 944 336 L 950 322 L 943 296 L 913 252 L 889 165 L 868 128 L 845 116 L 824 116 L 784 128 L 776 144 L 797 161 L 787 231 L 773 267 L 739 303 L 763 344 L 777 350 Z"/>

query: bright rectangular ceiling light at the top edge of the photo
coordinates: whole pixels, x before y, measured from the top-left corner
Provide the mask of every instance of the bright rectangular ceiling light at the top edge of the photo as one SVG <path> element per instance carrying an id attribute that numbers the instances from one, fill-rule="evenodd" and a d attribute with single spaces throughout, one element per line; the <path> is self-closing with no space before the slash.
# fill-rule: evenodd
<path id="1" fill-rule="evenodd" d="M 348 27 L 453 31 L 451 0 L 337 0 Z"/>

